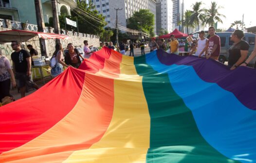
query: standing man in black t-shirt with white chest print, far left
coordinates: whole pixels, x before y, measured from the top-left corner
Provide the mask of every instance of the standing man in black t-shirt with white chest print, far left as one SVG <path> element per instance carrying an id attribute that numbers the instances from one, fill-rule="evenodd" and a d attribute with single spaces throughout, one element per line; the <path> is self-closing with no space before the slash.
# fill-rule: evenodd
<path id="1" fill-rule="evenodd" d="M 25 97 L 26 84 L 30 84 L 38 89 L 37 84 L 32 81 L 31 78 L 31 56 L 30 53 L 20 48 L 18 41 L 12 41 L 12 49 L 15 50 L 11 54 L 13 61 L 15 78 L 18 81 L 18 88 L 21 98 Z"/>

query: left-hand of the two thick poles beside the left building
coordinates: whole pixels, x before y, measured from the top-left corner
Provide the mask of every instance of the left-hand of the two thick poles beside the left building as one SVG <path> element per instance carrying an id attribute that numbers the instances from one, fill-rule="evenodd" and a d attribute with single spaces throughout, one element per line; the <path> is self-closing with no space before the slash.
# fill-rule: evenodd
<path id="1" fill-rule="evenodd" d="M 43 20 L 43 10 L 41 0 L 35 0 L 35 8 L 36 8 L 36 16 L 37 16 L 37 29 L 38 32 L 44 32 L 45 25 Z M 41 56 L 47 56 L 45 40 L 43 38 L 39 38 Z"/>

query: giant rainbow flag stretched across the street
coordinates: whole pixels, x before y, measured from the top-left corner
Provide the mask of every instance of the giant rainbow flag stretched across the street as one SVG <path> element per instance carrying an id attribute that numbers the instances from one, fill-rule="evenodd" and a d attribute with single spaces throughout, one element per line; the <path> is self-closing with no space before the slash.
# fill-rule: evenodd
<path id="1" fill-rule="evenodd" d="M 256 163 L 256 70 L 94 52 L 0 108 L 0 163 Z"/>

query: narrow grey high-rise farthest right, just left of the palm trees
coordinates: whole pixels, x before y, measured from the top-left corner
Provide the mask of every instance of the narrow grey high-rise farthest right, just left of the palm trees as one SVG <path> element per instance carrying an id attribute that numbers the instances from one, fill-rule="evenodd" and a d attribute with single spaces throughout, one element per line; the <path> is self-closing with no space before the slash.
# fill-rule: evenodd
<path id="1" fill-rule="evenodd" d="M 172 9 L 172 23 L 173 29 L 180 30 L 180 26 L 178 23 L 181 21 L 181 0 L 172 0 L 173 2 L 173 9 Z"/>

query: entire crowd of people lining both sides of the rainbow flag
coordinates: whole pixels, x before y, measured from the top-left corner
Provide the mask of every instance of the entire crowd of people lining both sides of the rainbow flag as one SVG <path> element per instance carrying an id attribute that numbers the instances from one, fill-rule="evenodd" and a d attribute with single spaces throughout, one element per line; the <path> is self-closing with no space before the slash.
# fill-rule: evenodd
<path id="1" fill-rule="evenodd" d="M 201 31 L 199 33 L 199 39 L 194 41 L 191 45 L 187 40 L 184 42 L 178 42 L 175 39 L 175 35 L 170 36 L 170 41 L 165 42 L 164 39 L 158 40 L 156 38 L 151 38 L 150 51 L 157 49 L 169 50 L 169 53 L 179 54 L 179 48 L 183 48 L 184 51 L 188 52 L 188 55 L 195 55 L 199 58 L 205 57 L 206 59 L 217 60 L 220 54 L 220 38 L 215 34 L 214 27 L 209 28 L 209 38 L 205 37 L 205 32 Z M 234 70 L 238 66 L 247 66 L 256 57 L 256 47 L 249 58 L 246 59 L 249 52 L 249 44 L 242 38 L 244 33 L 241 30 L 235 30 L 230 40 L 234 42 L 233 46 L 229 49 L 228 66 L 231 70 Z M 10 95 L 10 85 L 12 87 L 18 86 L 21 98 L 25 97 L 26 86 L 34 87 L 38 89 L 37 84 L 32 80 L 31 67 L 33 61 L 31 56 L 38 55 L 36 49 L 32 45 L 28 45 L 27 48 L 30 50 L 21 49 L 21 44 L 18 41 L 12 41 L 11 47 L 14 52 L 11 54 L 11 60 L 13 63 L 13 68 L 11 67 L 10 61 L 2 55 L 0 50 L 0 100 L 6 96 L 12 97 Z M 84 41 L 84 56 L 82 56 L 79 51 L 69 43 L 67 46 L 67 51 L 65 57 L 63 55 L 64 50 L 62 44 L 57 43 L 55 45 L 55 52 L 53 53 L 52 59 L 55 60 L 55 65 L 51 69 L 51 75 L 56 77 L 63 72 L 63 66 L 72 66 L 78 68 L 81 65 L 81 59 L 90 58 L 91 56 L 91 46 L 89 46 L 88 41 Z M 140 48 L 141 55 L 145 55 L 145 44 L 144 43 L 131 43 L 129 47 L 123 42 L 119 46 L 114 46 L 112 42 L 101 43 L 100 48 L 108 47 L 110 49 L 118 50 L 121 54 L 126 54 L 127 48 L 130 49 L 129 56 L 134 56 L 134 49 Z M 81 59 L 80 59 L 81 58 Z M 16 83 L 17 81 L 17 83 Z"/>

